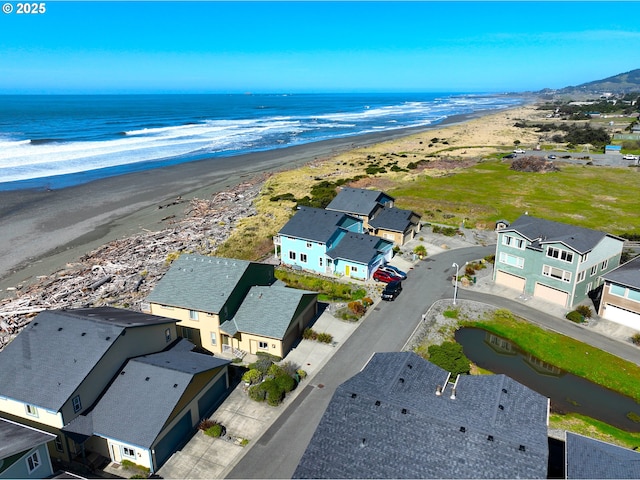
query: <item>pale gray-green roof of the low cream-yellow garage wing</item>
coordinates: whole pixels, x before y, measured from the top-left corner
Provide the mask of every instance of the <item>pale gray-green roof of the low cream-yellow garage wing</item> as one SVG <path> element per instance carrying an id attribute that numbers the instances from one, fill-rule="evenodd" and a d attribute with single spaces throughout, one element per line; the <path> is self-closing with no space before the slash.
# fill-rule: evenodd
<path id="1" fill-rule="evenodd" d="M 282 286 L 251 287 L 237 313 L 220 329 L 229 335 L 243 332 L 282 340 L 303 298 L 317 295 Z"/>

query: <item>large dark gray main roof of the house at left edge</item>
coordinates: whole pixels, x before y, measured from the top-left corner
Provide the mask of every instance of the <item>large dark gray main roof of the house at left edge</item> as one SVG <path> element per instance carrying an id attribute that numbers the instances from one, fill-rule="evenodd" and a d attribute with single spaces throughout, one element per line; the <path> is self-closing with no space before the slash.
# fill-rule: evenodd
<path id="1" fill-rule="evenodd" d="M 0 395 L 59 411 L 127 328 L 175 320 L 111 307 L 50 310 L 0 352 Z"/>

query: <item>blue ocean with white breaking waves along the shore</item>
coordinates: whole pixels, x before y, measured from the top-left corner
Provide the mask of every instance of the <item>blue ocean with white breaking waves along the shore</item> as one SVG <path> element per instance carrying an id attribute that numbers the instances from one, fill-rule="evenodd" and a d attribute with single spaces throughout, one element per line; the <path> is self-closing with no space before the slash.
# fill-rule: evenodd
<path id="1" fill-rule="evenodd" d="M 0 191 L 434 125 L 524 103 L 480 94 L 0 96 Z"/>

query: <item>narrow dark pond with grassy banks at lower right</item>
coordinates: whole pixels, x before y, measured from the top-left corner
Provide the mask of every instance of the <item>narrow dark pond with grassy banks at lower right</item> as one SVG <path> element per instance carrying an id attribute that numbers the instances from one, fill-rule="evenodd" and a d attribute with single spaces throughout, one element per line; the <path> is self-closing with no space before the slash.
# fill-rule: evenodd
<path id="1" fill-rule="evenodd" d="M 628 432 L 640 432 L 640 404 L 549 365 L 517 345 L 479 328 L 462 328 L 456 341 L 481 368 L 503 373 L 551 399 L 554 413 L 579 413 Z"/>

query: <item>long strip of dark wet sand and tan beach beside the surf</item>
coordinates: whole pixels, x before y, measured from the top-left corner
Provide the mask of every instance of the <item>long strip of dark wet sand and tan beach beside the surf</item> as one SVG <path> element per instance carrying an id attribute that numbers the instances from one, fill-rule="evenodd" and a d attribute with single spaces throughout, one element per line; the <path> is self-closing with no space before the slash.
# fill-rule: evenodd
<path id="1" fill-rule="evenodd" d="M 16 287 L 50 275 L 109 241 L 162 229 L 163 219 L 184 213 L 186 201 L 211 198 L 257 175 L 348 156 L 354 149 L 381 142 L 398 151 L 410 149 L 432 136 L 446 136 L 450 145 L 487 145 L 487 150 L 509 146 L 515 138 L 513 119 L 534 113 L 532 106 L 480 112 L 450 117 L 429 128 L 203 160 L 61 190 L 0 192 L 0 244 L 4 247 L 0 250 L 0 298 L 14 295 Z M 527 140 L 531 139 L 523 141 Z M 482 153 L 482 148 L 468 152 Z"/>

